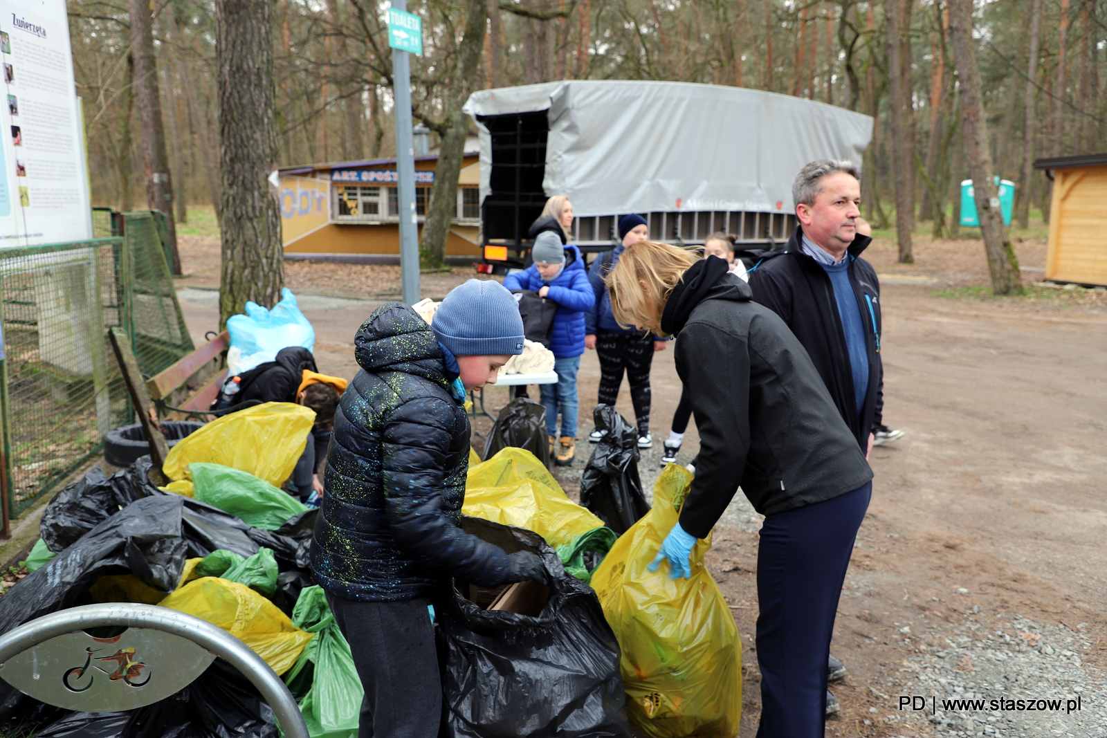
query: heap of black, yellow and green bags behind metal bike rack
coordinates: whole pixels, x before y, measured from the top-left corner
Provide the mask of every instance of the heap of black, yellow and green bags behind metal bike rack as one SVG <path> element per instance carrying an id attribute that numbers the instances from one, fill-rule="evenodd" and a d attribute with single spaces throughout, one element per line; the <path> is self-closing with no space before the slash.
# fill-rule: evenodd
<path id="1" fill-rule="evenodd" d="M 308 562 L 317 509 L 279 489 L 314 414 L 269 403 L 205 425 L 151 480 L 149 457 L 99 467 L 48 505 L 30 574 L 0 597 L 0 632 L 65 607 L 156 604 L 241 640 L 281 675 L 313 737 L 358 732 L 361 683 Z M 344 666 L 343 666 L 344 665 Z M 321 668 L 315 668 L 321 666 Z M 217 659 L 172 697 L 130 713 L 72 713 L 0 683 L 0 735 L 277 738 L 257 689 Z"/>

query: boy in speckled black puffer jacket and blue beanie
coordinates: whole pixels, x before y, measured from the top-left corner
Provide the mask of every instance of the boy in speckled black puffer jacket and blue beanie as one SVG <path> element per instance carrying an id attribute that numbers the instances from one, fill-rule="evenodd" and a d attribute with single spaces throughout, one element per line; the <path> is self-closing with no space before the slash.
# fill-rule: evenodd
<path id="1" fill-rule="evenodd" d="M 494 588 L 544 581 L 538 557 L 459 527 L 468 470 L 466 389 L 523 352 L 511 293 L 469 280 L 427 325 L 401 303 L 358 330 L 361 371 L 342 395 L 311 545 L 315 579 L 365 689 L 359 736 L 438 735 L 432 594 L 451 578 Z"/>

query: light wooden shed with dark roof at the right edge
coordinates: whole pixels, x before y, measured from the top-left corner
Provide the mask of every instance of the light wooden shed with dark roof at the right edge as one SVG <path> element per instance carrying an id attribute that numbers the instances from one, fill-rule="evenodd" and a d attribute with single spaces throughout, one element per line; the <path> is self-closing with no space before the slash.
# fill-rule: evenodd
<path id="1" fill-rule="evenodd" d="M 1107 285 L 1107 154 L 1038 159 L 1053 179 L 1045 278 Z"/>

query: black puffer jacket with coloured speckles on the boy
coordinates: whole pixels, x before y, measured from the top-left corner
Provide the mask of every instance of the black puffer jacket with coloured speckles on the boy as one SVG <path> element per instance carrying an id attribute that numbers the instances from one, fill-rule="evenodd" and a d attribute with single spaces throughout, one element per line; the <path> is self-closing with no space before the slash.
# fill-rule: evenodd
<path id="1" fill-rule="evenodd" d="M 458 527 L 469 422 L 452 389 L 456 362 L 402 303 L 373 311 L 354 346 L 361 371 L 334 415 L 315 579 L 340 597 L 384 602 L 431 596 L 449 575 L 506 581 L 507 554 Z"/>

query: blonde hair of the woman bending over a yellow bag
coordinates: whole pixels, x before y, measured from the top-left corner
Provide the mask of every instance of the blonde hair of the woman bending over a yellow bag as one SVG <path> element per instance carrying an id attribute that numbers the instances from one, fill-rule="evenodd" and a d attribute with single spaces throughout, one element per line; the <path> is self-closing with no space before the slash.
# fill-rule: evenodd
<path id="1" fill-rule="evenodd" d="M 641 325 L 658 335 L 661 313 L 669 295 L 689 267 L 699 261 L 695 252 L 658 241 L 628 246 L 619 263 L 603 280 L 611 293 L 611 312 L 620 325 Z"/>

